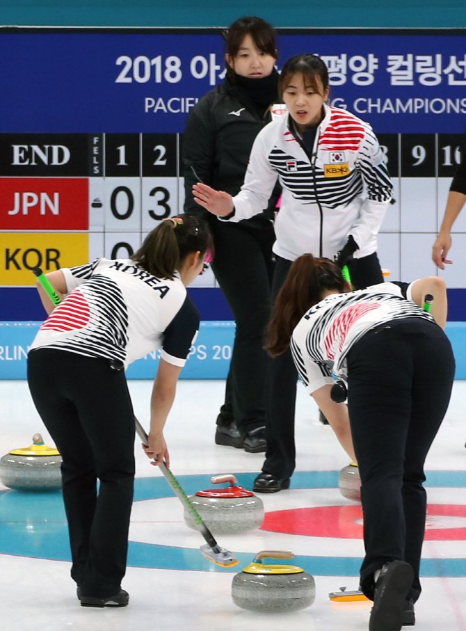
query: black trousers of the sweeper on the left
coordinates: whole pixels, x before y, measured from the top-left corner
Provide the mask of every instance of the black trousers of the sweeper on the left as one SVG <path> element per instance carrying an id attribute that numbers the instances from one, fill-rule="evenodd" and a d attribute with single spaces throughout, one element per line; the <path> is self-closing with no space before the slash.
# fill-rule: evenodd
<path id="1" fill-rule="evenodd" d="M 44 348 L 29 353 L 28 381 L 63 458 L 72 578 L 83 596 L 113 596 L 126 570 L 134 487 L 134 413 L 124 371 L 109 360 Z"/>

